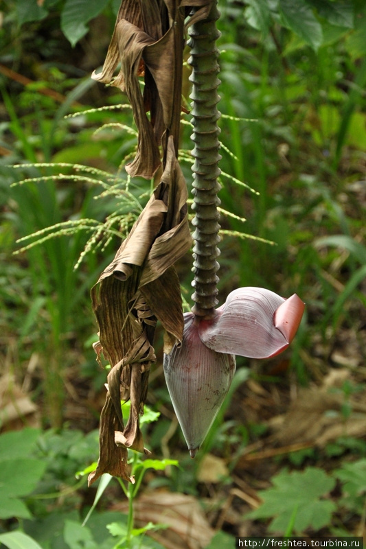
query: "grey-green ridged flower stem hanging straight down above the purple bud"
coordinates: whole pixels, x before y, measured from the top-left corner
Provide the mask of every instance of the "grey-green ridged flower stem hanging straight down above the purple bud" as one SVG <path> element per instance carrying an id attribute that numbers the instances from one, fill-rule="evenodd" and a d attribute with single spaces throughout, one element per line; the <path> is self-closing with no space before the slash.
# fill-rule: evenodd
<path id="1" fill-rule="evenodd" d="M 211 318 L 218 303 L 217 271 L 219 264 L 216 259 L 220 255 L 217 244 L 220 241 L 218 231 L 219 213 L 218 191 L 220 184 L 218 176 L 220 169 L 218 161 L 220 142 L 218 135 L 220 129 L 217 121 L 220 113 L 217 104 L 220 100 L 217 89 L 218 80 L 218 49 L 216 40 L 220 36 L 216 28 L 219 12 L 217 3 L 214 2 L 207 19 L 194 23 L 190 28 L 191 48 L 189 60 L 192 66 L 190 80 L 193 83 L 192 94 L 192 124 L 194 131 L 194 172 L 193 181 L 193 210 L 195 213 L 192 221 L 195 231 L 193 248 L 193 272 L 194 294 L 192 299 L 194 306 L 192 312 L 200 318 Z"/>

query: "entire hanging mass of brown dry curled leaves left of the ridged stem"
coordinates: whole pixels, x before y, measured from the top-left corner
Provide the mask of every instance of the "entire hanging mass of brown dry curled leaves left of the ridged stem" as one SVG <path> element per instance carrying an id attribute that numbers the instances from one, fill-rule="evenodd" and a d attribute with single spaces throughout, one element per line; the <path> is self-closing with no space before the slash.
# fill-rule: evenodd
<path id="1" fill-rule="evenodd" d="M 100 458 L 89 484 L 104 472 L 129 479 L 127 448 L 148 452 L 139 429 L 157 320 L 165 328 L 165 350 L 180 344 L 183 314 L 174 263 L 192 244 L 187 222 L 187 189 L 176 160 L 181 115 L 185 17 L 205 17 L 211 0 L 124 0 L 100 82 L 126 91 L 139 130 L 137 155 L 126 167 L 131 176 L 163 175 L 148 205 L 91 291 L 100 328 L 95 347 L 111 363 L 108 393 L 100 423 Z M 113 75 L 118 63 L 120 70 Z M 139 76 L 144 76 L 141 93 Z M 146 113 L 150 111 L 150 117 Z M 126 426 L 121 400 L 130 399 Z"/>

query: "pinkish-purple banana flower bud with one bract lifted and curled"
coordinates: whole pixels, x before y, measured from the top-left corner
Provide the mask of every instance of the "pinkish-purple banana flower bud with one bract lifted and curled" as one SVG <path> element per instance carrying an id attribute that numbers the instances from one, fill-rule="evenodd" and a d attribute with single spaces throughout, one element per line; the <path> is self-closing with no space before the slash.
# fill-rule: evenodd
<path id="1" fill-rule="evenodd" d="M 238 288 L 209 320 L 184 315 L 182 344 L 164 355 L 165 380 L 192 457 L 227 395 L 235 355 L 269 358 L 295 337 L 304 303 L 264 288 Z"/>

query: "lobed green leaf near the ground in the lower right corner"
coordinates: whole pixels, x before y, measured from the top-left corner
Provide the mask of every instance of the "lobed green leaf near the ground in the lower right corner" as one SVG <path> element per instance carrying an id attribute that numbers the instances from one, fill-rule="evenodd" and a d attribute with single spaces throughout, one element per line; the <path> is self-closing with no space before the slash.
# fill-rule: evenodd
<path id="1" fill-rule="evenodd" d="M 333 489 L 334 484 L 334 478 L 317 467 L 308 467 L 303 472 L 282 471 L 273 478 L 272 488 L 260 492 L 264 503 L 247 517 L 275 517 L 269 530 L 285 533 L 296 507 L 293 530 L 297 533 L 309 527 L 319 530 L 329 524 L 336 509 L 333 502 L 320 499 Z"/>

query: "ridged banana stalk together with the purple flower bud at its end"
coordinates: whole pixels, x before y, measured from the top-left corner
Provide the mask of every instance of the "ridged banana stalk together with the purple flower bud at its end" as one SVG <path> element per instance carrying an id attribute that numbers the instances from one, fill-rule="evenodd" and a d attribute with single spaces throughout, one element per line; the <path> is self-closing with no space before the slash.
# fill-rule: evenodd
<path id="1" fill-rule="evenodd" d="M 217 124 L 218 16 L 214 1 L 207 18 L 190 28 L 195 159 L 194 306 L 191 313 L 184 315 L 181 345 L 174 345 L 164 355 L 165 380 L 192 458 L 227 395 L 236 369 L 235 355 L 268 358 L 284 351 L 304 312 L 304 303 L 296 294 L 285 300 L 264 288 L 238 288 L 222 307 L 215 308 L 221 158 Z"/>

